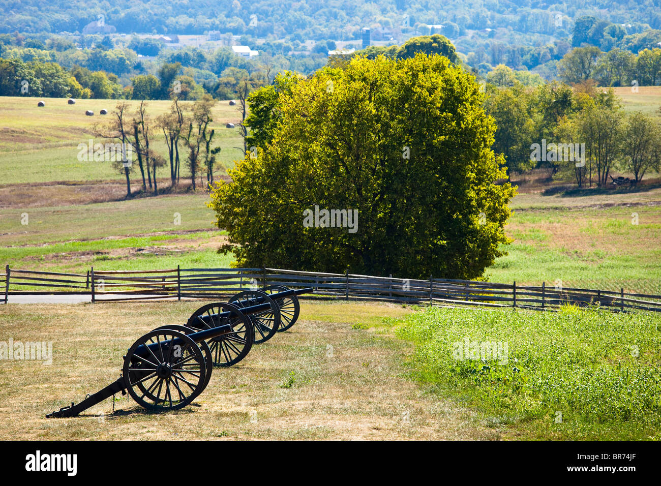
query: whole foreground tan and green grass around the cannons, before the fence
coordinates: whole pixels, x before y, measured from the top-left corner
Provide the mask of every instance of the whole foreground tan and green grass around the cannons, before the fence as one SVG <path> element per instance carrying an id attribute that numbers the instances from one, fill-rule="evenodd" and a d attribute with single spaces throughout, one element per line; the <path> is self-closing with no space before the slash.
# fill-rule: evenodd
<path id="1" fill-rule="evenodd" d="M 303 301 L 290 331 L 215 368 L 186 409 L 156 415 L 118 395 L 116 413 L 106 399 L 44 418 L 114 381 L 139 335 L 199 305 L 3 306 L 2 339 L 52 341 L 52 364 L 3 361 L 0 439 L 660 438 L 659 317 L 576 309 Z M 508 362 L 455 360 L 466 337 L 508 343 Z"/>

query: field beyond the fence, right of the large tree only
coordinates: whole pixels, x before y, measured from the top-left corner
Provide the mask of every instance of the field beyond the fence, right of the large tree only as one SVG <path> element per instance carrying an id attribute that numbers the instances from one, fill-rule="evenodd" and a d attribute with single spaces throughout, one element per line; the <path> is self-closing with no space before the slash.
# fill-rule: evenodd
<path id="1" fill-rule="evenodd" d="M 563 207 L 564 206 L 564 207 Z M 508 255 L 492 282 L 661 294 L 661 190 L 594 196 L 520 194 Z"/>

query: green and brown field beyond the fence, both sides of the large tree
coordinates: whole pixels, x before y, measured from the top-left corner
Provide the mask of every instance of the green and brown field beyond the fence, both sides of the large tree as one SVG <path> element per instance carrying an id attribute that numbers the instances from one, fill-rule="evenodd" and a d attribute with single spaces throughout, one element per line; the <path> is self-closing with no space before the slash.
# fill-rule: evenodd
<path id="1" fill-rule="evenodd" d="M 207 200 L 201 192 L 5 209 L 0 263 L 83 273 L 91 265 L 97 270 L 226 266 L 232 257 L 215 253 L 224 233 L 212 229 Z M 514 242 L 506 247 L 508 255 L 486 270 L 489 280 L 535 285 L 561 280 L 564 287 L 661 294 L 661 188 L 573 197 L 524 192 L 512 208 L 506 233 Z M 21 223 L 24 214 L 27 225 Z"/>

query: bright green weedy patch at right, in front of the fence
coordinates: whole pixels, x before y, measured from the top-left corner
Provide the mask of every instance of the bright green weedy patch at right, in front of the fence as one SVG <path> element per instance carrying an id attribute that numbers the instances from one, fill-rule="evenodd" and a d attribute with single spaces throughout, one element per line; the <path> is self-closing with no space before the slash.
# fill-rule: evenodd
<path id="1" fill-rule="evenodd" d="M 413 378 L 507 438 L 659 440 L 661 316 L 434 307 L 405 317 Z M 486 344 L 488 344 L 488 348 Z M 492 352 L 496 346 L 496 352 Z"/>

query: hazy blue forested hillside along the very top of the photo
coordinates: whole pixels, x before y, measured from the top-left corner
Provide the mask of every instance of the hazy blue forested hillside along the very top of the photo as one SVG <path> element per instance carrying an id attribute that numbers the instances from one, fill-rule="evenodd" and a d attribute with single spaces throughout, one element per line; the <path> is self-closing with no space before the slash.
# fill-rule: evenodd
<path id="1" fill-rule="evenodd" d="M 199 1 L 1 1 L 0 31 L 61 32 L 81 31 L 104 15 L 117 32 L 178 32 L 202 34 L 220 30 L 234 34 L 252 33 L 289 36 L 298 32 L 305 38 L 338 38 L 356 36 L 363 26 L 400 28 L 402 15 L 410 16 L 408 24 L 449 24 L 457 35 L 467 29 L 506 28 L 528 34 L 554 34 L 555 17 L 568 20 L 583 15 L 613 23 L 644 24 L 661 28 L 658 0 L 577 0 L 551 3 L 530 0 L 309 0 L 272 2 L 267 0 L 199 0 Z M 256 15 L 256 22 L 253 21 Z M 551 22 L 548 22 L 549 15 Z M 449 32 L 451 33 L 451 32 Z"/>

